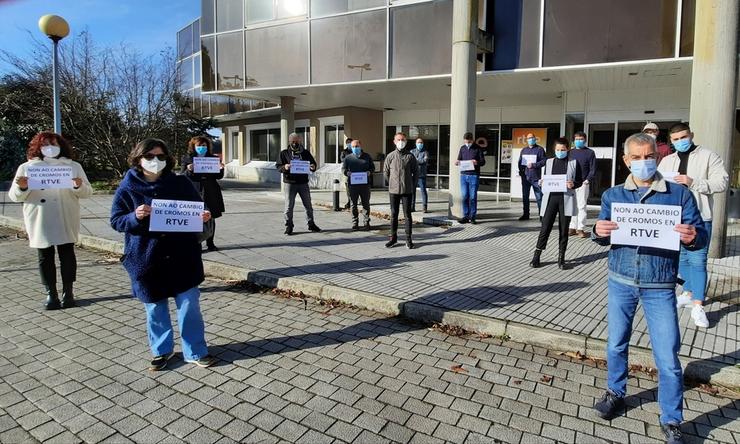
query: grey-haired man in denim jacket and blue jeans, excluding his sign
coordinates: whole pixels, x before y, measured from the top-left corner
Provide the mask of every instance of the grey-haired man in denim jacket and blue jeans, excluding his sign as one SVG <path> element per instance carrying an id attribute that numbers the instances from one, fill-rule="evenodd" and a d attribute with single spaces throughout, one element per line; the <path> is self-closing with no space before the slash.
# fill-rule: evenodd
<path id="1" fill-rule="evenodd" d="M 638 133 L 624 142 L 624 163 L 632 174 L 623 185 L 612 187 L 602 195 L 601 213 L 592 232 L 595 242 L 609 245 L 611 232 L 618 228 L 611 221 L 612 203 L 639 203 L 680 206 L 681 224 L 676 225 L 675 230 L 681 244 L 688 250 L 706 244 L 707 232 L 694 196 L 686 187 L 664 180 L 657 173 L 656 158 L 652 137 Z M 678 251 L 612 245 L 607 314 L 608 389 L 594 405 L 599 416 L 605 419 L 624 412 L 632 321 L 637 303 L 641 301 L 658 368 L 660 423 L 668 443 L 683 442 L 679 428 L 683 421 L 683 375 L 678 360 L 681 338 L 674 293 L 678 259 Z"/>

